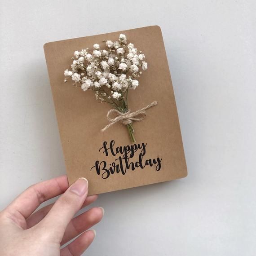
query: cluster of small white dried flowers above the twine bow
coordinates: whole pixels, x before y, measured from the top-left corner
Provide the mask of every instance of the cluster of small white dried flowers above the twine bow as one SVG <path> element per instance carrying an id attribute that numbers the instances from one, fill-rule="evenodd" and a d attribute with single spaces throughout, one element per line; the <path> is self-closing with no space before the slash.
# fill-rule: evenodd
<path id="1" fill-rule="evenodd" d="M 132 43 L 128 44 L 124 34 L 117 41 L 103 42 L 104 49 L 94 44 L 92 51 L 89 48 L 75 51 L 71 70 L 66 69 L 64 75 L 83 91 L 95 91 L 96 99 L 101 102 L 120 107 L 126 100 L 127 105 L 128 89 L 137 88 L 137 78 L 147 69 L 145 55 Z"/>

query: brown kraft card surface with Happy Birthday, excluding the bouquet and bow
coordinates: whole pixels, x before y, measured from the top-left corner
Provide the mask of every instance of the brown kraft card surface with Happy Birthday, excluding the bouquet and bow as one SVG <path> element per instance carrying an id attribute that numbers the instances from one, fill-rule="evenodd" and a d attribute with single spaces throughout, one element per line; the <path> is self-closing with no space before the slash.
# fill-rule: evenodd
<path id="1" fill-rule="evenodd" d="M 158 102 L 146 110 L 145 119 L 132 123 L 136 143 L 131 142 L 126 125 L 120 122 L 102 132 L 108 124 L 106 114 L 112 108 L 110 104 L 98 102 L 93 91 L 84 92 L 72 86 L 71 80 L 63 82 L 63 72 L 70 69 L 75 50 L 92 49 L 96 43 L 104 49 L 103 40 L 118 40 L 120 33 L 145 54 L 148 63 L 148 69 L 138 79 L 139 86 L 135 90 L 128 89 L 129 109 L 133 112 Z M 159 26 L 50 42 L 44 44 L 44 52 L 70 184 L 79 177 L 86 177 L 91 195 L 187 175 Z"/>

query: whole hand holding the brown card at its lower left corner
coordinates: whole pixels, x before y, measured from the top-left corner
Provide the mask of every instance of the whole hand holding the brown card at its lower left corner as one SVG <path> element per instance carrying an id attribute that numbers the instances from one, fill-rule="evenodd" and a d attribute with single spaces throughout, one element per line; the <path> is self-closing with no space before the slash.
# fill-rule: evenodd
<path id="1" fill-rule="evenodd" d="M 63 195 L 55 203 L 33 213 L 41 203 L 60 194 Z M 71 187 L 66 176 L 29 187 L 0 212 L 0 255 L 81 255 L 95 237 L 95 231 L 88 229 L 101 221 L 104 214 L 103 208 L 94 207 L 72 219 L 81 207 L 97 199 L 97 195 L 87 197 L 87 194 L 85 178 L 78 179 Z"/>

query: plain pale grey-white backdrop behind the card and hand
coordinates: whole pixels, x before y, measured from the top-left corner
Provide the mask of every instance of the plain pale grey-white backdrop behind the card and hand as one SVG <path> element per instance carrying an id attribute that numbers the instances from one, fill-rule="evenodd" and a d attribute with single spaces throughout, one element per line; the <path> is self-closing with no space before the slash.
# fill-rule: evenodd
<path id="1" fill-rule="evenodd" d="M 255 13 L 253 0 L 1 0 L 0 209 L 65 173 L 43 44 L 159 25 L 189 175 L 100 195 L 86 255 L 255 255 Z"/>

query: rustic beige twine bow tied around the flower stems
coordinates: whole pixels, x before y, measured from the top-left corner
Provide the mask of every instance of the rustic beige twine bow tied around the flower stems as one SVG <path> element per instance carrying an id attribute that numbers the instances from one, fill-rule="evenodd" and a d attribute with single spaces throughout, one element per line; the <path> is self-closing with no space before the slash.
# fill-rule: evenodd
<path id="1" fill-rule="evenodd" d="M 131 124 L 133 121 L 141 121 L 146 117 L 146 110 L 152 106 L 157 105 L 157 102 L 154 101 L 150 103 L 148 106 L 143 107 L 135 112 L 131 112 L 128 110 L 125 113 L 122 113 L 116 109 L 111 109 L 107 112 L 107 119 L 109 123 L 102 129 L 102 132 L 106 131 L 106 129 L 110 128 L 115 123 L 121 122 L 124 125 Z M 116 117 L 111 118 L 110 115 L 114 113 Z"/>

